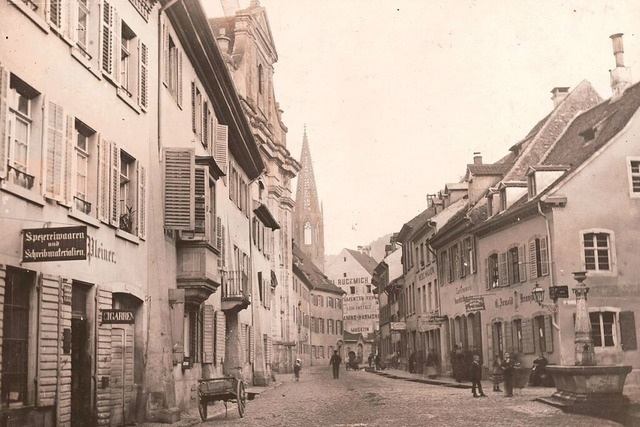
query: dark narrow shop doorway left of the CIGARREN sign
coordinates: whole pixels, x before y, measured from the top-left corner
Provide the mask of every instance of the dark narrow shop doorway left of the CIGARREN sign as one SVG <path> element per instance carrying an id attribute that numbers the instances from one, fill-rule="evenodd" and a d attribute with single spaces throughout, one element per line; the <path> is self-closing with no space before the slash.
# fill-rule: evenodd
<path id="1" fill-rule="evenodd" d="M 91 425 L 91 334 L 87 296 L 91 288 L 73 283 L 71 293 L 71 426 Z"/>

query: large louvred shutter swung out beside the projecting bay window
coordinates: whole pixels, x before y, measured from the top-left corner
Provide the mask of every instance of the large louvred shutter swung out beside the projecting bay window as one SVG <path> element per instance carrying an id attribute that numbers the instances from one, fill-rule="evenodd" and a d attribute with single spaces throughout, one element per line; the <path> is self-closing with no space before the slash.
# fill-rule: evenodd
<path id="1" fill-rule="evenodd" d="M 195 226 L 195 153 L 193 149 L 164 149 L 164 226 L 193 230 Z"/>

